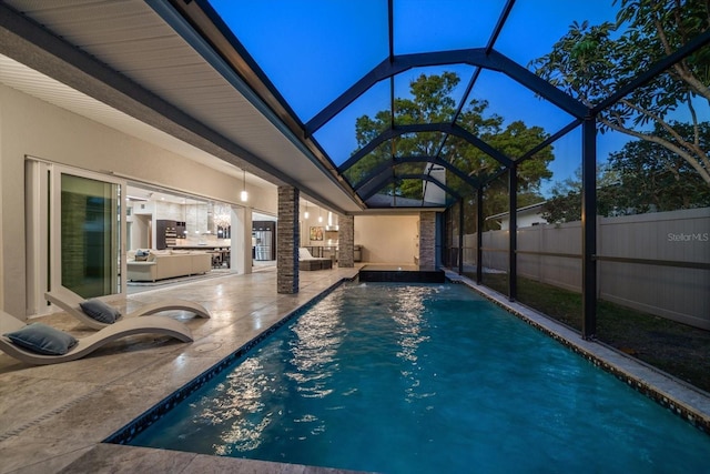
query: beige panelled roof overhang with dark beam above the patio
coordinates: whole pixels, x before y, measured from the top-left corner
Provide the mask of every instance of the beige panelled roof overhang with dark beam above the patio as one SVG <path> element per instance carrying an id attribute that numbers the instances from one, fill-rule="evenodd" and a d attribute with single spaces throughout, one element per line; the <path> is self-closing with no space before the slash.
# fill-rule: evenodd
<path id="1" fill-rule="evenodd" d="M 143 140 L 171 141 L 211 168 L 298 188 L 335 212 L 363 211 L 233 70 L 199 51 L 165 16 L 140 0 L 91 8 L 11 0 L 0 3 L 0 54 L 51 78 L 43 82 L 59 95 L 81 94 L 82 101 L 60 101 L 72 112 Z M 23 91 L 40 95 L 39 83 L 26 81 Z"/>

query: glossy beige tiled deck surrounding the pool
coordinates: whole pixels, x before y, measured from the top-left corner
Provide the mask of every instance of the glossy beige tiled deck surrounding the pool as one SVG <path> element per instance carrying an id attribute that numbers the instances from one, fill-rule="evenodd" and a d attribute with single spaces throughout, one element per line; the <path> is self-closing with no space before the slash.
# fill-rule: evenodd
<path id="1" fill-rule="evenodd" d="M 161 400 L 209 370 L 285 315 L 311 302 L 354 269 L 300 273 L 300 293 L 276 293 L 275 268 L 248 275 L 185 282 L 130 294 L 113 303 L 124 311 L 154 301 L 180 297 L 206 306 L 209 320 L 175 311 L 171 315 L 190 326 L 194 342 L 131 336 L 106 345 L 82 360 L 31 366 L 0 353 L 0 474 L 4 473 L 280 473 L 322 474 L 346 471 L 262 461 L 209 456 L 101 443 Z M 500 300 L 455 273 L 452 280 L 497 299 L 519 316 L 552 336 L 594 354 L 601 364 L 632 374 L 638 389 L 647 385 L 666 394 L 672 410 L 686 410 L 710 423 L 710 397 L 652 367 L 639 364 L 517 303 Z M 90 334 L 63 313 L 43 321 L 78 337 Z M 631 383 L 631 382 L 630 382 Z"/>

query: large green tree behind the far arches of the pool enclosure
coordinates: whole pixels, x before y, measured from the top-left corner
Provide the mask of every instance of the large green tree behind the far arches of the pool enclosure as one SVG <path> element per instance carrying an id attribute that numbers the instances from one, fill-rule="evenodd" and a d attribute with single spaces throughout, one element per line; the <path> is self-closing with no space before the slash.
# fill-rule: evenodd
<path id="1" fill-rule="evenodd" d="M 440 75 L 422 74 L 409 84 L 412 98 L 395 99 L 396 124 L 423 124 L 448 123 L 456 112 L 456 100 L 453 92 L 459 82 L 456 73 L 444 72 Z M 468 132 L 481 139 L 509 158 L 523 155 L 536 144 L 546 140 L 548 135 L 539 127 L 528 128 L 517 121 L 504 127 L 504 119 L 496 114 L 486 114 L 488 103 L 486 101 L 471 100 L 458 117 L 457 124 Z M 387 130 L 392 124 L 389 110 L 379 111 L 374 118 L 359 117 L 355 124 L 358 147 L 362 148 Z M 394 143 L 383 143 L 367 157 L 364 157 L 345 172 L 346 178 L 357 186 L 368 173 L 381 163 L 392 161 L 393 154 L 399 157 L 423 155 L 439 157 L 456 165 L 470 177 L 486 179 L 497 173 L 503 165 L 494 158 L 484 153 L 467 141 L 449 135 L 446 140 L 439 132 L 422 132 L 397 138 Z M 537 153 L 534 159 L 526 160 L 518 167 L 519 200 L 520 205 L 539 202 L 542 198 L 539 193 L 540 181 L 549 179 L 551 172 L 548 163 L 552 160 L 551 147 Z M 423 173 L 422 163 L 402 163 L 397 165 L 397 173 Z M 447 173 L 447 186 L 452 186 L 462 195 L 473 193 L 473 189 L 463 180 L 452 173 Z M 494 182 L 491 186 L 496 186 Z M 507 186 L 498 192 L 489 192 L 488 206 L 495 208 L 495 202 L 504 201 L 507 205 Z M 423 186 L 419 180 L 409 180 L 398 183 L 389 189 L 390 193 L 398 196 L 422 199 Z M 500 195 L 498 195 L 500 194 Z M 529 202 L 531 201 L 531 202 Z M 525 203 L 525 204 L 524 204 Z M 507 209 L 507 208 L 506 208 Z M 493 212 L 493 211 L 491 211 Z M 500 211 L 498 211 L 500 212 Z"/>

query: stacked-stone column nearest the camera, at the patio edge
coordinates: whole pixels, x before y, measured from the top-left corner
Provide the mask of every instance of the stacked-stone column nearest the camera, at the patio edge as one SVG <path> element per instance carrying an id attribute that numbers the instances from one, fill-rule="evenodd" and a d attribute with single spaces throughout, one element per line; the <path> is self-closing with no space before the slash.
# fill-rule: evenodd
<path id="1" fill-rule="evenodd" d="M 276 223 L 276 291 L 298 293 L 300 191 L 278 186 L 278 222 Z"/>

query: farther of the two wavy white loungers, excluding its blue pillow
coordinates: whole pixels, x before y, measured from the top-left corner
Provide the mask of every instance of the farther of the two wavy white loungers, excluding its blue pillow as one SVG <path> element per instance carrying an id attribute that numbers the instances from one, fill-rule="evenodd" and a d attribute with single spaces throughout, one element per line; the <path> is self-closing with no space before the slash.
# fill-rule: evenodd
<path id="1" fill-rule="evenodd" d="M 59 307 L 61 307 L 67 313 L 71 314 L 89 327 L 101 330 L 111 325 L 110 323 L 98 321 L 84 313 L 81 307 L 81 303 L 85 303 L 88 300 L 84 300 L 83 297 L 71 290 L 65 289 L 64 286 L 60 286 L 59 289 L 44 293 L 44 297 L 47 299 L 47 301 L 57 304 Z M 190 311 L 192 313 L 195 313 L 200 317 L 210 317 L 210 312 L 206 307 L 204 307 L 202 304 L 187 300 L 170 300 L 145 304 L 142 307 L 128 314 L 126 317 L 145 316 L 149 314 L 155 314 L 163 311 L 172 310 Z"/>

